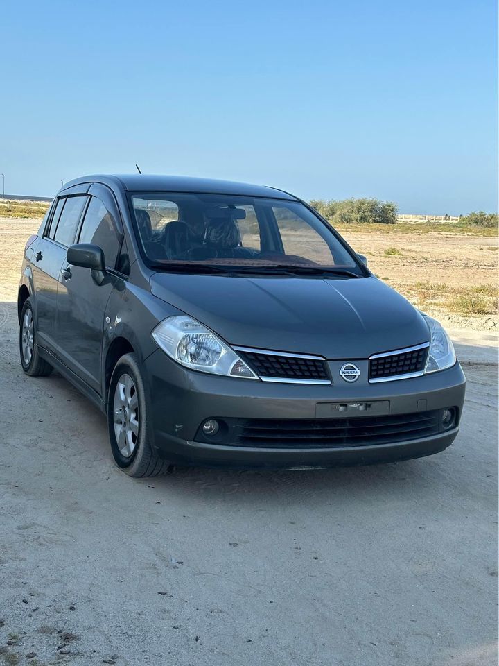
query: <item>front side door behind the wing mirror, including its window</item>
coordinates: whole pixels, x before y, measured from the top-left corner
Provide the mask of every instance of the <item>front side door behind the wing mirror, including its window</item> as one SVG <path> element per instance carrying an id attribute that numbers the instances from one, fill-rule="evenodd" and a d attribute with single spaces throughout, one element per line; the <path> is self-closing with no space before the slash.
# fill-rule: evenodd
<path id="1" fill-rule="evenodd" d="M 102 284 L 89 268 L 64 262 L 58 287 L 56 342 L 64 364 L 100 394 L 105 309 L 116 280 L 122 280 L 123 226 L 110 190 L 92 185 L 78 243 L 103 249 L 106 276 Z"/>

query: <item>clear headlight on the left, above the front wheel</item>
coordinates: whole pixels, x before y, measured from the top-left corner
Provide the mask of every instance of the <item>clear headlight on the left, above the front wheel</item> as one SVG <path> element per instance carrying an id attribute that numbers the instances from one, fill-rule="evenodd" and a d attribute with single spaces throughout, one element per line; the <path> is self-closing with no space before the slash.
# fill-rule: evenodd
<path id="1" fill-rule="evenodd" d="M 191 317 L 181 315 L 161 321 L 152 337 L 170 358 L 191 370 L 258 379 L 229 345 Z"/>

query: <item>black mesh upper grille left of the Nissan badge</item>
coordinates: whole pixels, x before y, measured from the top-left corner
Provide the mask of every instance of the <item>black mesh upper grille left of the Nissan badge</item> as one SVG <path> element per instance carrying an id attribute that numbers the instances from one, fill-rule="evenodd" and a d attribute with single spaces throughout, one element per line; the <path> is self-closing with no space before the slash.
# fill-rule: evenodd
<path id="1" fill-rule="evenodd" d="M 329 381 L 326 364 L 322 359 L 236 349 L 259 377 Z"/>

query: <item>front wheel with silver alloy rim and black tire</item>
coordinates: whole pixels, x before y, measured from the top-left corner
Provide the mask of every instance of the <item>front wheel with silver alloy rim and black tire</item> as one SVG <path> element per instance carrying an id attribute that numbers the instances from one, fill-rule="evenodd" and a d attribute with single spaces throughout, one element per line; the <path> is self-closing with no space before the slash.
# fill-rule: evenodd
<path id="1" fill-rule="evenodd" d="M 125 354 L 114 367 L 107 396 L 107 426 L 116 464 L 130 477 L 152 477 L 170 463 L 152 447 L 146 389 L 137 357 Z"/>

